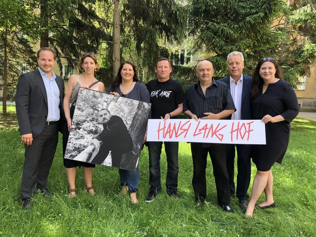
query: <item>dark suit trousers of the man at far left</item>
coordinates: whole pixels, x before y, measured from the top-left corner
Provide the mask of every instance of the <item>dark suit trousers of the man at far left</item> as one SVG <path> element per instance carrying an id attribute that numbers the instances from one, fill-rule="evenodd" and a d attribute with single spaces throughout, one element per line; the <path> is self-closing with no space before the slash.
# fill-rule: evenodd
<path id="1" fill-rule="evenodd" d="M 25 145 L 21 199 L 30 198 L 36 189 L 47 187 L 49 169 L 58 143 L 58 127 L 58 122 L 45 125 L 40 135 L 33 138 L 32 145 Z"/>

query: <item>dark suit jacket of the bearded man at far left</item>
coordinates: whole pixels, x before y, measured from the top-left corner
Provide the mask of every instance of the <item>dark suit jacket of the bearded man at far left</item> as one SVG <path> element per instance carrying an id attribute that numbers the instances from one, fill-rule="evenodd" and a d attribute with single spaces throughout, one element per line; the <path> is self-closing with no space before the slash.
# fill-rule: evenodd
<path id="1" fill-rule="evenodd" d="M 59 125 L 62 128 L 65 117 L 63 110 L 65 86 L 63 79 L 58 76 L 56 76 L 56 83 L 60 99 Z M 15 102 L 20 134 L 32 133 L 34 137 L 37 137 L 43 130 L 48 115 L 47 94 L 39 70 L 25 73 L 19 78 Z"/>

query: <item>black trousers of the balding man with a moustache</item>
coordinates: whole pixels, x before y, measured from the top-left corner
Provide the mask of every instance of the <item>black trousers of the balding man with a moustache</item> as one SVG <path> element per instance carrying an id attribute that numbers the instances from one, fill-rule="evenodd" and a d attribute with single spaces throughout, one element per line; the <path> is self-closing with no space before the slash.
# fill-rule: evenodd
<path id="1" fill-rule="evenodd" d="M 225 145 L 201 148 L 191 143 L 193 159 L 193 179 L 192 185 L 197 200 L 206 199 L 206 177 L 205 170 L 207 164 L 207 154 L 213 164 L 213 174 L 217 190 L 217 200 L 220 205 L 230 204 L 229 179 L 226 169 L 226 149 Z"/>

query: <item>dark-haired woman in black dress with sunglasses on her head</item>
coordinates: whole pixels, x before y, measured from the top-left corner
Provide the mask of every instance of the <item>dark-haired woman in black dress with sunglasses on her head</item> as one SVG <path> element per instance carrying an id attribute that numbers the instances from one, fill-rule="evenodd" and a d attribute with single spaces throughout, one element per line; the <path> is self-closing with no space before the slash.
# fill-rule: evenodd
<path id="1" fill-rule="evenodd" d="M 254 119 L 265 123 L 266 145 L 252 147 L 257 166 L 251 198 L 245 215 L 252 217 L 256 201 L 265 192 L 261 209 L 275 207 L 272 166 L 281 163 L 290 138 L 290 122 L 298 115 L 299 105 L 292 86 L 283 80 L 274 58 L 262 58 L 252 74 L 251 107 Z"/>

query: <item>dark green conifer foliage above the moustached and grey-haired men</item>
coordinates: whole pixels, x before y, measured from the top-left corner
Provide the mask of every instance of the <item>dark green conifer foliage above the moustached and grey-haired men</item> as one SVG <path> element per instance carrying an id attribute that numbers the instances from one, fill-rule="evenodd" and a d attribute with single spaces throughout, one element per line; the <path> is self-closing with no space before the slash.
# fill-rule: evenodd
<path id="1" fill-rule="evenodd" d="M 273 19 L 285 7 L 280 0 L 191 0 L 193 11 L 189 17 L 190 35 L 195 50 L 205 47 L 213 54 L 215 75 L 227 75 L 226 57 L 241 51 L 245 57 L 245 73 L 251 74 L 262 57 L 276 56 L 285 38 L 271 29 Z"/>

